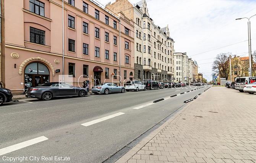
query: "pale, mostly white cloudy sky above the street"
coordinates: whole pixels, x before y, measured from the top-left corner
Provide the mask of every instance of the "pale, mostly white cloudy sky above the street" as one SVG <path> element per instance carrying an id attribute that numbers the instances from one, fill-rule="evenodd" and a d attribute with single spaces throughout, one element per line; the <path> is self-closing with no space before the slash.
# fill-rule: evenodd
<path id="1" fill-rule="evenodd" d="M 95 0 L 102 5 L 115 0 Z M 140 0 L 129 0 L 132 4 Z M 198 73 L 212 80 L 212 62 L 220 53 L 249 56 L 248 19 L 256 15 L 256 0 L 146 0 L 150 18 L 169 26 L 175 52 L 186 52 L 198 63 Z M 245 18 L 235 20 L 237 18 Z M 256 50 L 256 16 L 251 22 L 251 50 Z"/>

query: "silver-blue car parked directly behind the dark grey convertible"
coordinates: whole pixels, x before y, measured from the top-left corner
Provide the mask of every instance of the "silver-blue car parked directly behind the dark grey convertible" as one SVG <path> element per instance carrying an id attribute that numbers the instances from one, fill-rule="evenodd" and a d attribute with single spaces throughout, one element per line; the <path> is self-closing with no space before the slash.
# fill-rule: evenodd
<path id="1" fill-rule="evenodd" d="M 92 93 L 94 93 L 94 94 L 107 95 L 109 93 L 114 93 L 114 92 L 124 93 L 125 87 L 117 86 L 116 84 L 113 84 L 113 83 L 105 83 L 101 86 L 92 87 Z"/>

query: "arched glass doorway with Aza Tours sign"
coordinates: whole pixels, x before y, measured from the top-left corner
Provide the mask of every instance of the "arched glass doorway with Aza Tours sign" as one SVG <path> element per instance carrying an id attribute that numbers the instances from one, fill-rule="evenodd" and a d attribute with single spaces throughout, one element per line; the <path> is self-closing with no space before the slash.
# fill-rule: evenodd
<path id="1" fill-rule="evenodd" d="M 42 63 L 33 62 L 24 70 L 24 83 L 26 87 L 36 87 L 50 82 L 49 69 Z"/>

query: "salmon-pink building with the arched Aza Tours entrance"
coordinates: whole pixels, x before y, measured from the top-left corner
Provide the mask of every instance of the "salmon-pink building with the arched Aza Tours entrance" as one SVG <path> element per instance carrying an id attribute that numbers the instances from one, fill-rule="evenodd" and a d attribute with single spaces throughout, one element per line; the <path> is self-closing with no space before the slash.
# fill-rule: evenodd
<path id="1" fill-rule="evenodd" d="M 85 80 L 90 87 L 133 80 L 133 19 L 122 12 L 112 15 L 91 0 L 63 3 L 8 0 L 1 5 L 2 87 L 23 92 L 58 82 L 62 74 L 76 86 Z"/>

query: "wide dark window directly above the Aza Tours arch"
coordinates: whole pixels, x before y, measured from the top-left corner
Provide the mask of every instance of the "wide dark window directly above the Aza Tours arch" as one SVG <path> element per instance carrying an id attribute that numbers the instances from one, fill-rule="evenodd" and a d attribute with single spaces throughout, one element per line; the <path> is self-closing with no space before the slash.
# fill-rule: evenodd
<path id="1" fill-rule="evenodd" d="M 45 45 L 45 31 L 30 27 L 30 42 Z"/>

